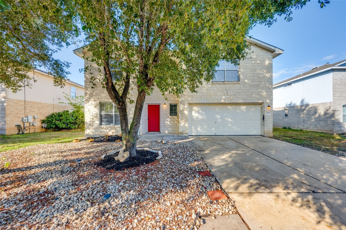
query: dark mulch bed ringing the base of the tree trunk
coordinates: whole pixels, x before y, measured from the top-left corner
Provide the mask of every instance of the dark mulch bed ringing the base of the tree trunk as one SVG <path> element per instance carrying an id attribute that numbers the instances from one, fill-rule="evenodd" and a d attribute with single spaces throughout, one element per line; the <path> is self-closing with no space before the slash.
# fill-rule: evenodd
<path id="1" fill-rule="evenodd" d="M 156 160 L 157 153 L 147 150 L 137 150 L 137 158 L 127 158 L 124 162 L 116 161 L 114 157 L 118 156 L 118 153 L 106 156 L 104 159 L 96 161 L 97 166 L 101 166 L 105 169 L 113 169 L 116 171 L 124 170 L 127 168 L 134 168 L 143 164 L 149 164 Z"/>

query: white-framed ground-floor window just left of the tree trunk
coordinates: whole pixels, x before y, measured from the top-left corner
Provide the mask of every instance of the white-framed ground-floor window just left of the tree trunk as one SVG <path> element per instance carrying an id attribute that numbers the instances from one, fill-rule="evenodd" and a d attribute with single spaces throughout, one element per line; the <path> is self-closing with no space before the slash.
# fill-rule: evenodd
<path id="1" fill-rule="evenodd" d="M 100 124 L 120 124 L 119 111 L 113 102 L 100 102 Z"/>

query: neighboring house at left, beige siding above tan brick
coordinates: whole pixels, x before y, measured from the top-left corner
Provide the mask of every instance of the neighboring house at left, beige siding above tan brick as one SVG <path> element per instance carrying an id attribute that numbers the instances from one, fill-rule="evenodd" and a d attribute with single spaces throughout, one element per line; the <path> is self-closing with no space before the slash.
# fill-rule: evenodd
<path id="1" fill-rule="evenodd" d="M 0 134 L 16 134 L 16 124 L 23 127 L 22 118 L 37 116 L 36 132 L 43 131 L 41 120 L 53 112 L 70 110 L 71 107 L 59 102 L 68 102 L 64 93 L 73 96 L 84 96 L 84 86 L 67 80 L 65 87 L 55 87 L 53 77 L 47 72 L 35 69 L 28 73 L 30 77 L 37 79 L 32 82 L 32 88 L 23 87 L 17 93 L 0 84 Z M 26 122 L 25 126 L 29 126 Z M 35 127 L 30 127 L 34 132 Z M 28 133 L 29 130 L 26 131 Z"/>

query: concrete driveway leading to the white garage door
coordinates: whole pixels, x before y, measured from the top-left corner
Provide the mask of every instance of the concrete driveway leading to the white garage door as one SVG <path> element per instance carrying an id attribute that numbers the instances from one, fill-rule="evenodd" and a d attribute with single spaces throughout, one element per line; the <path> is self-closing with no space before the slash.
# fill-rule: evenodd
<path id="1" fill-rule="evenodd" d="M 346 158 L 262 136 L 189 138 L 252 230 L 346 230 Z"/>

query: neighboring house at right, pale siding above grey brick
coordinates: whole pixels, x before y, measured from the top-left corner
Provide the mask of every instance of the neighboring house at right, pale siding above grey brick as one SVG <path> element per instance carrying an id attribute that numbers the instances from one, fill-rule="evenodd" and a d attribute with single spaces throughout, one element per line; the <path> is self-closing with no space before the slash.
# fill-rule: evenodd
<path id="1" fill-rule="evenodd" d="M 274 127 L 346 132 L 346 60 L 274 84 Z"/>

